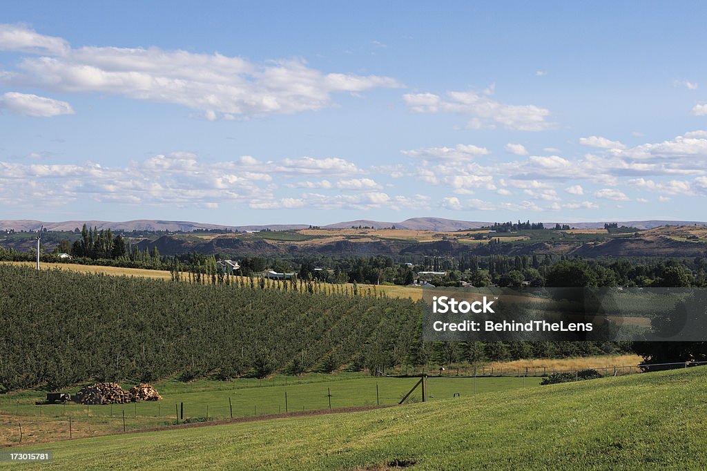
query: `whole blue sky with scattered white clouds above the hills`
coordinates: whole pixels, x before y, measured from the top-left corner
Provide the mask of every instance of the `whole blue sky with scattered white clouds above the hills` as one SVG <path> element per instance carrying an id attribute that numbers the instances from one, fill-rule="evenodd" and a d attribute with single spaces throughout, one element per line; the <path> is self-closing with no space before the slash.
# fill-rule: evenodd
<path id="1" fill-rule="evenodd" d="M 0 219 L 707 219 L 706 4 L 97 3 L 3 6 Z"/>

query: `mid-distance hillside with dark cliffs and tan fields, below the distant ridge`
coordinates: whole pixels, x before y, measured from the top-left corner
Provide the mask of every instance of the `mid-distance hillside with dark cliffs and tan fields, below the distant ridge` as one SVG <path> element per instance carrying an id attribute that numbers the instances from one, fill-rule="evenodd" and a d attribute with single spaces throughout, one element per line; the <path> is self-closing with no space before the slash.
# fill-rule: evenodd
<path id="1" fill-rule="evenodd" d="M 687 232 L 685 228 L 692 228 Z M 707 231 L 700 226 L 661 226 L 651 231 L 609 234 L 603 229 L 578 231 L 484 230 L 436 232 L 410 229 L 303 229 L 204 237 L 162 236 L 138 247 L 162 255 L 581 255 L 583 257 L 700 257 L 707 255 Z M 660 232 L 656 232 L 660 231 Z M 675 234 L 675 235 L 673 235 Z M 695 235 L 697 234 L 697 235 Z M 694 239 L 687 239 L 692 237 Z M 498 242 L 489 244 L 489 241 Z M 25 243 L 29 246 L 31 241 Z"/>

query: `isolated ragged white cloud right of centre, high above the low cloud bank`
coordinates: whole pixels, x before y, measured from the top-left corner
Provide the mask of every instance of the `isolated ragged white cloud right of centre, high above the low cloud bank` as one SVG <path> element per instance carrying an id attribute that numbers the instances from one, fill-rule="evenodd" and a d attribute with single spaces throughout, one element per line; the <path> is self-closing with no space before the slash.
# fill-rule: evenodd
<path id="1" fill-rule="evenodd" d="M 453 112 L 469 117 L 470 129 L 504 127 L 520 131 L 543 131 L 556 127 L 548 122 L 549 110 L 536 105 L 508 105 L 492 100 L 493 86 L 482 92 L 449 91 L 446 98 L 434 93 L 407 93 L 405 103 L 414 112 Z"/>

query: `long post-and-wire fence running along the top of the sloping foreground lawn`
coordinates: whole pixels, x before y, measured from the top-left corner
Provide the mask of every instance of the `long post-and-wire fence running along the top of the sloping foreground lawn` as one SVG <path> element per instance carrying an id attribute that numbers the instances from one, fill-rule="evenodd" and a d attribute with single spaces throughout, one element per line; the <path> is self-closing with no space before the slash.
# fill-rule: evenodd
<path id="1" fill-rule="evenodd" d="M 452 397 L 469 397 L 484 392 L 499 392 L 538 386 L 553 373 L 575 373 L 592 369 L 601 376 L 624 376 L 648 371 L 691 368 L 707 361 L 686 361 L 652 365 L 624 365 L 602 368 L 467 368 L 457 371 L 432 370 L 416 376 L 378 376 L 346 381 L 322 381 L 299 385 L 273 385 L 267 388 L 215 391 L 180 397 L 166 397 L 158 402 L 132 402 L 114 405 L 48 405 L 18 398 L 0 402 L 0 446 L 18 443 L 41 443 L 122 431 L 158 429 L 165 426 L 228 419 L 255 418 L 276 414 L 321 413 L 329 409 L 396 405 Z M 414 388 L 426 378 L 423 397 Z M 35 397 L 36 399 L 36 397 Z M 176 399 L 176 400 L 175 400 Z"/>

